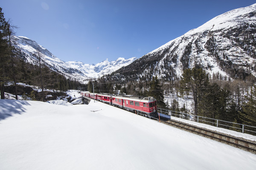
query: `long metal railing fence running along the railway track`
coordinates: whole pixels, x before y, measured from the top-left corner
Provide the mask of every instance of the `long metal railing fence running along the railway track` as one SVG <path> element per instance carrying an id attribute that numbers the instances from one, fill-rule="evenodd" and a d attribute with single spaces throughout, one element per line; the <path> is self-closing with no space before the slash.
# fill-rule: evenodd
<path id="1" fill-rule="evenodd" d="M 248 133 L 248 134 L 256 135 L 256 127 L 255 126 L 227 122 L 224 120 L 212 119 L 209 117 L 197 116 L 197 115 L 193 115 L 193 114 L 189 114 L 189 113 L 171 111 L 171 110 L 166 110 L 166 109 L 162 109 L 162 108 L 157 108 L 157 111 L 161 114 L 166 115 L 166 118 L 169 118 L 169 119 L 171 119 L 171 116 L 174 116 L 174 117 L 178 117 L 181 119 L 190 120 L 193 122 L 204 123 L 204 124 L 212 125 L 215 127 L 222 127 L 225 129 L 234 130 L 234 131 L 238 131 L 241 133 Z M 168 117 L 168 116 L 170 116 L 170 117 Z"/>

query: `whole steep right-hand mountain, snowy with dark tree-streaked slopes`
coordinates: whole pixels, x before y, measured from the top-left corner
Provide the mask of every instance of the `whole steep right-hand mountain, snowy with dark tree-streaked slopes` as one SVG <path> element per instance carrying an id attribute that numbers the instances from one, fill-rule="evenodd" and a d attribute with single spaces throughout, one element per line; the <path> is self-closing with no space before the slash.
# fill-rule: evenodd
<path id="1" fill-rule="evenodd" d="M 115 73 L 172 80 L 195 66 L 222 79 L 256 76 L 256 4 L 221 14 Z"/>

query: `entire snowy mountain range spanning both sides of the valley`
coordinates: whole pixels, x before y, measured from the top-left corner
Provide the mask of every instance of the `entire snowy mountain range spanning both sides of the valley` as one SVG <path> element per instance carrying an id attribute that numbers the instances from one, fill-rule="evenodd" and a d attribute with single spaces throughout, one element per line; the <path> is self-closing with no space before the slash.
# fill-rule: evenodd
<path id="1" fill-rule="evenodd" d="M 12 37 L 20 57 L 37 64 L 39 50 L 44 63 L 54 71 L 79 82 L 108 76 L 122 79 L 151 80 L 153 76 L 171 81 L 183 70 L 195 66 L 220 79 L 256 76 L 256 4 L 221 14 L 204 25 L 166 43 L 139 59 L 118 58 L 96 65 L 64 62 L 46 48 L 26 37 Z"/>

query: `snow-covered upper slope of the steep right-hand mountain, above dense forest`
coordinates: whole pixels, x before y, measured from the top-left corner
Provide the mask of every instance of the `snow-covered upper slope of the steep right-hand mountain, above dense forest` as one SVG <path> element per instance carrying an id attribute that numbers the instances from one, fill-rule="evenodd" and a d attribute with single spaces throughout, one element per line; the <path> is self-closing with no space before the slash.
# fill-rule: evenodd
<path id="1" fill-rule="evenodd" d="M 247 43 L 243 46 L 247 46 L 250 50 L 244 50 L 239 44 L 234 44 L 234 40 L 232 42 L 232 38 L 230 37 L 240 40 L 246 37 L 246 31 L 252 31 L 253 37 L 251 41 L 256 41 L 255 26 L 256 4 L 253 4 L 246 8 L 238 8 L 221 14 L 209 20 L 204 25 L 192 29 L 183 36 L 151 51 L 147 55 L 164 51 L 166 48 L 169 48 L 169 51 L 175 48 L 174 55 L 177 54 L 178 62 L 173 64 L 176 64 L 176 68 L 179 68 L 176 71 L 176 73 L 178 73 L 178 71 L 182 71 L 182 68 L 184 68 L 182 58 L 186 55 L 186 48 L 190 46 L 191 52 L 188 54 L 189 60 L 187 60 L 187 68 L 192 68 L 195 64 L 201 64 L 211 73 L 219 72 L 226 75 L 221 67 L 219 67 L 214 53 L 217 53 L 219 57 L 226 62 L 231 61 L 233 64 L 244 67 L 246 67 L 246 65 L 254 66 L 256 64 L 256 46 Z M 234 30 L 235 28 L 242 27 L 244 27 L 244 29 Z M 229 34 L 230 37 L 227 37 L 227 34 Z M 207 44 L 207 42 L 209 43 Z M 191 43 L 191 45 L 189 45 L 189 43 Z M 212 51 L 214 51 L 214 53 L 212 53 Z M 253 52 L 253 56 L 251 56 L 250 51 Z M 225 58 L 224 56 L 227 57 Z M 255 70 L 253 70 L 252 73 L 256 76 Z"/>

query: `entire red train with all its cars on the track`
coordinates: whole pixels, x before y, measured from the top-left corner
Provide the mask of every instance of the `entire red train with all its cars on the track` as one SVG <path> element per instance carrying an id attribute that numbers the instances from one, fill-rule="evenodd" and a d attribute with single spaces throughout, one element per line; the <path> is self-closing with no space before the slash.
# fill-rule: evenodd
<path id="1" fill-rule="evenodd" d="M 81 95 L 100 102 L 108 103 L 109 105 L 124 108 L 127 111 L 143 113 L 148 116 L 157 115 L 157 101 L 154 97 L 93 94 L 90 92 L 81 92 Z"/>

